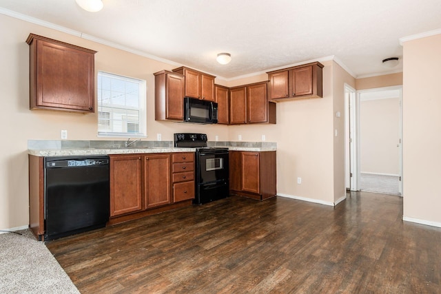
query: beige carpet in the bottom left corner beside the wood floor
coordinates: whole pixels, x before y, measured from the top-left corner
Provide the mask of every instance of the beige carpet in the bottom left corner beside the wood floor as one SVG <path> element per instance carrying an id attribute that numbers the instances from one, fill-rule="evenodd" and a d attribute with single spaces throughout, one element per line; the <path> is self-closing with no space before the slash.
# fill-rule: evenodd
<path id="1" fill-rule="evenodd" d="M 0 234 L 0 293 L 79 293 L 30 230 Z"/>

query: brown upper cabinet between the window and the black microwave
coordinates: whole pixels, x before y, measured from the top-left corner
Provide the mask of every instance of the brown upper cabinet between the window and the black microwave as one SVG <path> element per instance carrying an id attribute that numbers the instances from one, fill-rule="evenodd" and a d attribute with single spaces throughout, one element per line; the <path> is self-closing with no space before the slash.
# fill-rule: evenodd
<path id="1" fill-rule="evenodd" d="M 184 119 L 183 74 L 161 70 L 154 74 L 155 120 Z"/>

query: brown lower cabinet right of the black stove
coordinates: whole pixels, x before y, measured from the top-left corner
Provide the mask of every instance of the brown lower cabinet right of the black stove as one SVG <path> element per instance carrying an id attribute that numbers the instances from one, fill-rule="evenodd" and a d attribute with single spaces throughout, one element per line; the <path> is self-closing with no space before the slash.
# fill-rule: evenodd
<path id="1" fill-rule="evenodd" d="M 276 151 L 229 151 L 230 194 L 265 200 L 276 196 Z"/>

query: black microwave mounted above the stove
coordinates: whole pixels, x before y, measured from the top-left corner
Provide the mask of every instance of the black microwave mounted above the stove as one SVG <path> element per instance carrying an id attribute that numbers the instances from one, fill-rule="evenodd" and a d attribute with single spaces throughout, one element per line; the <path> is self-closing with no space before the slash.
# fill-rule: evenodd
<path id="1" fill-rule="evenodd" d="M 218 103 L 184 97 L 184 121 L 218 123 Z"/>

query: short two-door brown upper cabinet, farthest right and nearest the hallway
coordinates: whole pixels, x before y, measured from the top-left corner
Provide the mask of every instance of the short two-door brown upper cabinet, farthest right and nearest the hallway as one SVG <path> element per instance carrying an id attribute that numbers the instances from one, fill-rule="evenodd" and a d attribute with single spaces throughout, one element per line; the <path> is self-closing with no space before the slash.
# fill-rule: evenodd
<path id="1" fill-rule="evenodd" d="M 314 62 L 267 72 L 269 100 L 322 97 L 322 68 L 321 63 Z"/>

